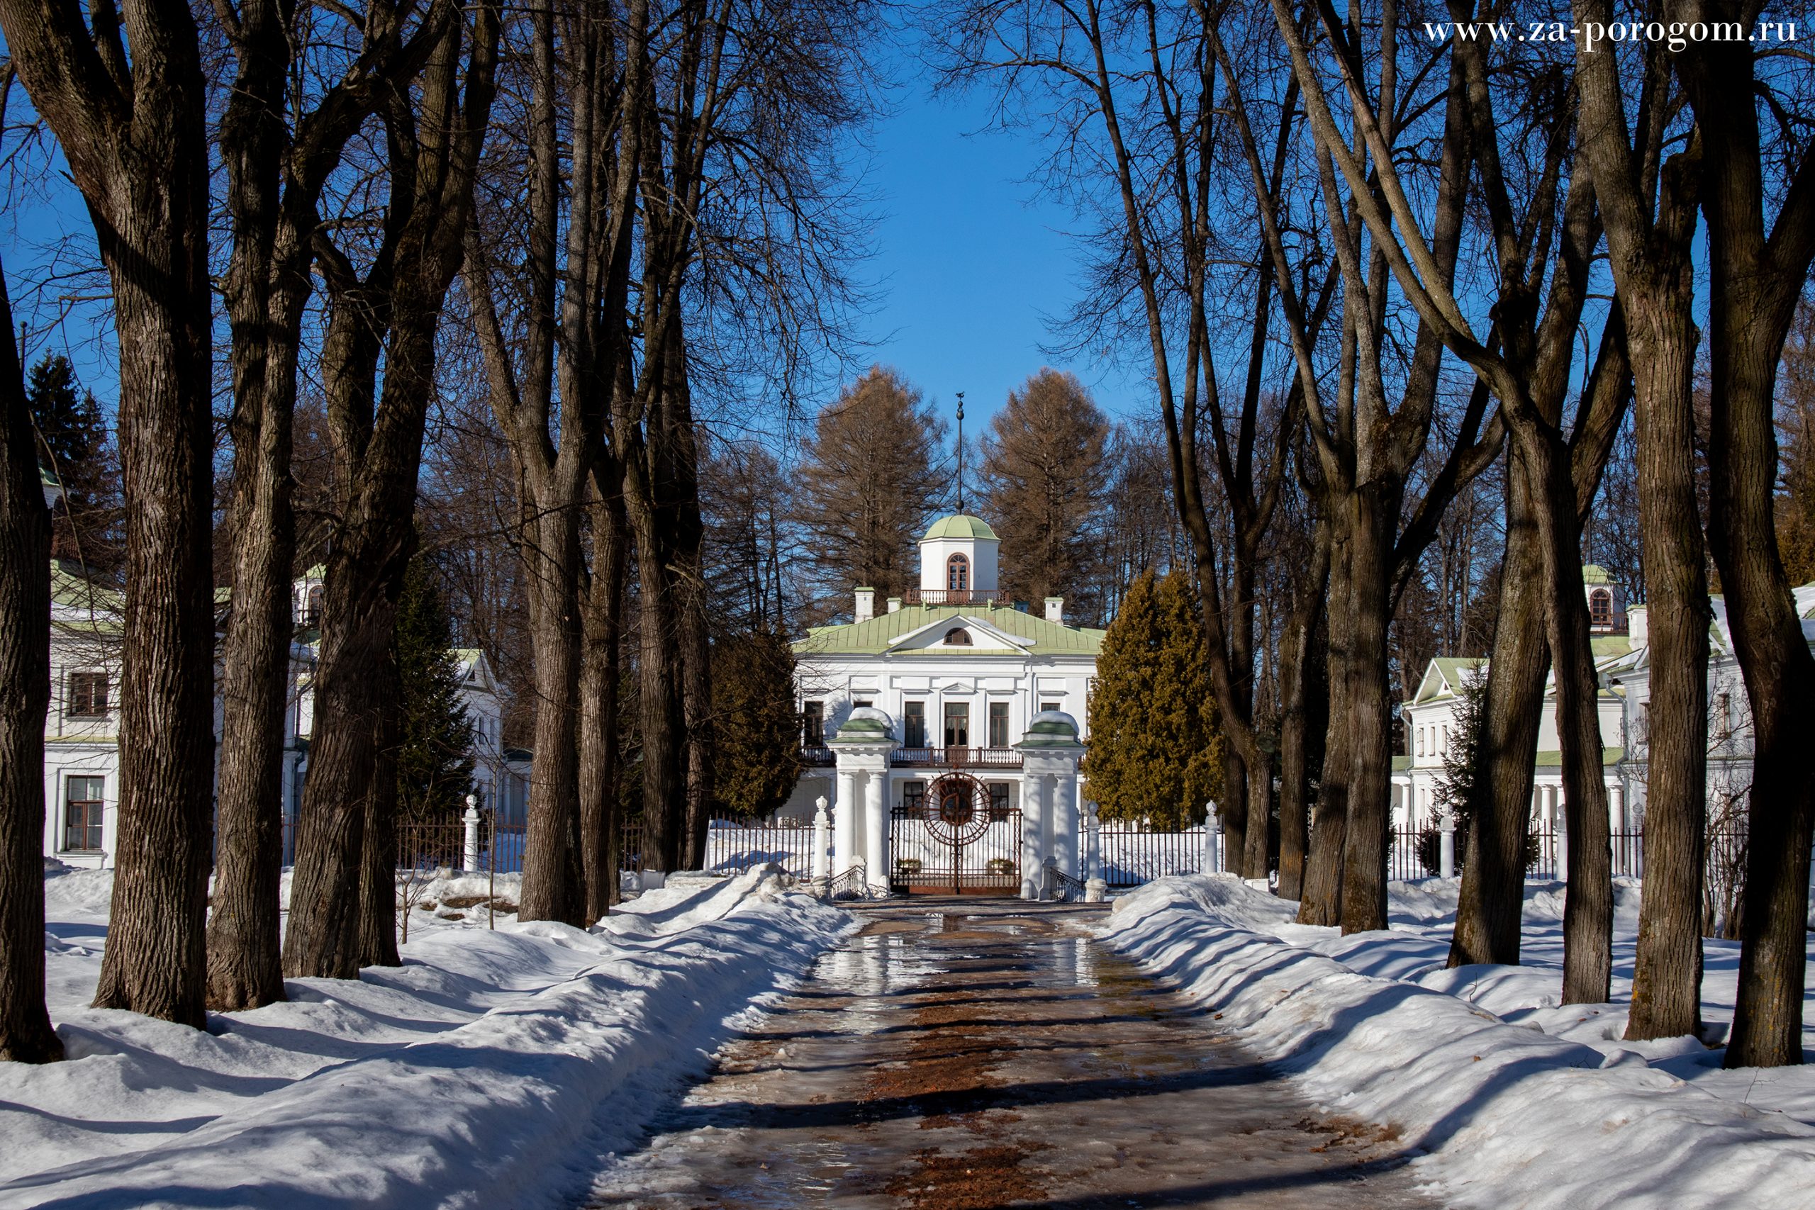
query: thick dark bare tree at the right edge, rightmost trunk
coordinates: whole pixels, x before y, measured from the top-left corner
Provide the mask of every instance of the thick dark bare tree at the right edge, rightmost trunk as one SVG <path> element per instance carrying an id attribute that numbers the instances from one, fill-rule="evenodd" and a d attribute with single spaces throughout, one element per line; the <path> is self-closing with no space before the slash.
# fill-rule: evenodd
<path id="1" fill-rule="evenodd" d="M 1761 11 L 1750 0 L 1664 7 L 1673 20 L 1741 27 Z M 1802 1061 L 1815 834 L 1806 737 L 1815 715 L 1815 657 L 1773 533 L 1773 395 L 1784 339 L 1815 261 L 1815 145 L 1806 132 L 1802 73 L 1773 73 L 1751 44 L 1692 42 L 1677 73 L 1695 107 L 1708 216 L 1708 533 L 1753 720 L 1744 934 L 1726 1065 L 1781 1067 Z M 1759 129 L 1761 112 L 1779 127 L 1771 151 Z M 1775 220 L 1768 220 L 1773 209 Z M 1634 1001 L 1637 1007 L 1637 989 Z"/>

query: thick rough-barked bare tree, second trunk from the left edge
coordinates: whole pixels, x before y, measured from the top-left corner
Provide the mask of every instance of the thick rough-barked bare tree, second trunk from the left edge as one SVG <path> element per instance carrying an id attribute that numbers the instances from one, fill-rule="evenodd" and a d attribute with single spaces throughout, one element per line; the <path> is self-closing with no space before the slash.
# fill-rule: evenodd
<path id="1" fill-rule="evenodd" d="M 176 0 L 5 0 L 113 285 L 127 559 L 120 844 L 94 1003 L 200 1027 L 214 771 L 207 85 Z M 131 36 L 131 53 L 127 47 Z"/>

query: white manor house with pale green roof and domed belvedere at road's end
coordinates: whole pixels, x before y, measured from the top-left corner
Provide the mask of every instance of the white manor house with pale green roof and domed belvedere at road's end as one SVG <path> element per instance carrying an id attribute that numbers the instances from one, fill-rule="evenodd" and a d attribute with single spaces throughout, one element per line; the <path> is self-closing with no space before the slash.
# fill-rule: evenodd
<path id="1" fill-rule="evenodd" d="M 851 622 L 793 644 L 808 767 L 780 815 L 808 820 L 826 800 L 833 876 L 1015 891 L 1049 860 L 1078 876 L 1104 631 L 1067 626 L 1060 597 L 1038 615 L 1000 599 L 998 546 L 982 519 L 940 517 L 918 588 L 884 602 L 857 588 Z"/>

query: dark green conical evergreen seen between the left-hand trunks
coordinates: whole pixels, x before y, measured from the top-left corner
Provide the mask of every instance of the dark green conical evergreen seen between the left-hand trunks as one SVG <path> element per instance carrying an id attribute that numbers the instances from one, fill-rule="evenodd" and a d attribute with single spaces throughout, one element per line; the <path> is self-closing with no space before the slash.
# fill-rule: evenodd
<path id="1" fill-rule="evenodd" d="M 472 791 L 472 722 L 452 644 L 434 570 L 412 559 L 392 633 L 399 680 L 397 815 L 405 820 L 456 816 Z"/>

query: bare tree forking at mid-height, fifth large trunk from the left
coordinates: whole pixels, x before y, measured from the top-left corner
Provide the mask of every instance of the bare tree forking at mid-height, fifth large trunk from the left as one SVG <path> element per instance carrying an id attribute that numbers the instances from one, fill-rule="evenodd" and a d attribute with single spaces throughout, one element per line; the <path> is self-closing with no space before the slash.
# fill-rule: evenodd
<path id="1" fill-rule="evenodd" d="M 559 38 L 557 38 L 559 24 Z M 581 521 L 594 461 L 606 448 L 610 385 L 624 314 L 641 161 L 648 5 L 630 5 L 619 29 L 601 5 L 530 16 L 526 230 L 514 316 L 515 356 L 499 308 L 497 236 L 476 223 L 466 238 L 466 292 L 477 316 L 492 410 L 523 483 L 523 557 L 535 648 L 535 758 L 525 845 L 525 920 L 586 922 L 579 818 L 583 680 Z M 570 123 L 563 174 L 559 125 Z M 626 122 L 628 116 L 628 122 Z M 563 176 L 570 205 L 563 210 Z M 564 249 L 563 245 L 564 232 Z M 615 479 L 610 472 L 606 481 Z"/>

